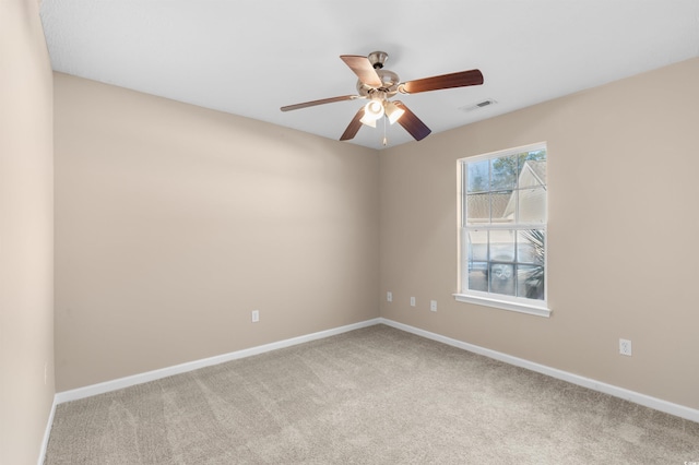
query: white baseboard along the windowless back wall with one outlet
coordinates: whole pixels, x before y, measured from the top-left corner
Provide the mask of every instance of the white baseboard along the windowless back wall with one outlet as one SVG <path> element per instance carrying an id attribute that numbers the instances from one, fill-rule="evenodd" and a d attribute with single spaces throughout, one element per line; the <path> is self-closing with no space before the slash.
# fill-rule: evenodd
<path id="1" fill-rule="evenodd" d="M 379 324 L 381 320 L 378 318 L 372 320 L 362 321 L 359 323 L 347 324 L 345 326 L 334 327 L 332 330 L 327 330 L 327 331 L 320 331 L 318 333 L 307 334 L 305 336 L 292 337 L 291 339 L 279 341 L 276 343 L 264 344 L 261 346 L 237 350 L 229 354 L 223 354 L 215 357 L 190 361 L 187 363 L 175 365 L 173 367 L 167 367 L 159 370 L 146 371 L 145 373 L 133 374 L 131 377 L 126 377 L 126 378 L 119 378 L 117 380 L 106 381 L 104 383 L 92 384 L 85 388 L 79 388 L 70 391 L 59 392 L 56 394 L 55 404 L 62 404 L 64 402 L 78 401 L 80 398 L 91 397 L 93 395 L 117 391 L 123 388 L 129 388 L 132 385 L 159 380 L 162 378 L 171 377 L 174 374 L 186 373 L 188 371 L 198 370 L 200 368 L 210 367 L 212 365 L 218 365 L 225 361 L 237 360 L 239 358 L 250 357 L 253 355 L 259 355 L 265 351 L 276 350 L 284 347 L 291 347 L 297 344 L 308 343 L 310 341 L 322 339 L 324 337 L 334 336 L 337 334 L 346 333 L 348 331 L 358 330 L 360 327 L 372 326 L 375 324 Z"/>

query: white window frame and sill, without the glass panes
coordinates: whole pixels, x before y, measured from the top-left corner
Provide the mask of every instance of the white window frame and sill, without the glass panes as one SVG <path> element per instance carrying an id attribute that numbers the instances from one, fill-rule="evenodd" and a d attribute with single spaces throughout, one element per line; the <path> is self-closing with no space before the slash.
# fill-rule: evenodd
<path id="1" fill-rule="evenodd" d="M 506 296 L 495 293 L 485 293 L 477 291 L 471 289 L 464 289 L 463 287 L 463 273 L 467 273 L 466 270 L 462 270 L 465 264 L 465 260 L 463 260 L 463 251 L 464 248 L 467 247 L 465 242 L 465 231 L 470 229 L 465 224 L 465 175 L 464 175 L 464 164 L 473 164 L 477 162 L 483 162 L 486 159 L 493 159 L 498 157 L 503 157 L 508 155 L 517 155 L 523 152 L 533 152 L 538 150 L 546 151 L 546 166 L 548 167 L 549 153 L 546 142 L 538 142 L 536 144 L 523 145 L 513 148 L 507 148 L 498 152 L 490 152 L 483 155 L 476 155 L 465 158 L 460 158 L 457 160 L 457 172 L 458 172 L 458 227 L 457 227 L 457 236 L 458 236 L 458 289 L 459 291 L 453 295 L 454 299 L 460 302 L 467 303 L 476 303 L 486 307 L 494 307 L 503 310 L 510 310 L 521 313 L 534 314 L 537 317 L 550 317 L 552 310 L 548 308 L 548 235 L 547 235 L 547 224 L 548 217 L 544 223 L 508 223 L 507 225 L 493 225 L 489 224 L 485 227 L 478 227 L 479 229 L 488 229 L 488 230 L 497 230 L 497 229 L 542 229 L 544 230 L 544 299 L 528 299 L 524 297 L 514 297 L 514 296 Z M 548 186 L 548 181 L 546 181 Z M 546 205 L 548 208 L 548 189 L 546 189 Z M 548 212 L 547 212 L 548 213 Z M 548 215 L 546 215 L 548 216 Z M 471 227 L 473 229 L 474 227 Z"/>

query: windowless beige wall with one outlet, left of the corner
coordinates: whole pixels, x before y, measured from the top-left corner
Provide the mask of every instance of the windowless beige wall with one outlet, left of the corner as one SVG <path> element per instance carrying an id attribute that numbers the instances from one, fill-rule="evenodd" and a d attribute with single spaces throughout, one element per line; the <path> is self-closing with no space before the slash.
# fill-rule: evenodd
<path id="1" fill-rule="evenodd" d="M 66 74 L 55 93 L 58 391 L 379 315 L 375 151 Z"/>

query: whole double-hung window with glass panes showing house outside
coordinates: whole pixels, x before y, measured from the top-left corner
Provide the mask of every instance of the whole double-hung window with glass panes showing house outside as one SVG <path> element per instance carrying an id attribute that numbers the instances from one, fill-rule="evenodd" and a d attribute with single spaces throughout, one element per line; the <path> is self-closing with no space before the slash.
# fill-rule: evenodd
<path id="1" fill-rule="evenodd" d="M 457 300 L 548 317 L 546 144 L 459 160 Z"/>

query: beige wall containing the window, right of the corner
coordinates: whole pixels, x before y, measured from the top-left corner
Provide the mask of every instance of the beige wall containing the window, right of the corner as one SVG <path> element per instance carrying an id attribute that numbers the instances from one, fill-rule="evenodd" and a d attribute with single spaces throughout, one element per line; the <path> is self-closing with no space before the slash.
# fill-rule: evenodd
<path id="1" fill-rule="evenodd" d="M 381 315 L 699 408 L 698 82 L 694 59 L 381 152 Z M 457 159 L 540 141 L 553 315 L 454 301 Z"/>

